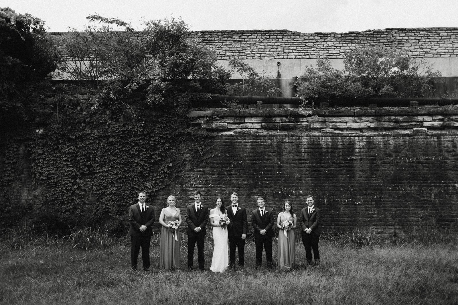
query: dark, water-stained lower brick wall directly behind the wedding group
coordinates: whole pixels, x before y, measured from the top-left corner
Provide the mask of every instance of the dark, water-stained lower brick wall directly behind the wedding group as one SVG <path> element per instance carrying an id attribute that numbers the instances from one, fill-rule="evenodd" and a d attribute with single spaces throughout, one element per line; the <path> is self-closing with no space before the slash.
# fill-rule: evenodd
<path id="1" fill-rule="evenodd" d="M 457 108 L 295 111 L 191 112 L 215 135 L 199 168 L 153 199 L 158 212 L 169 194 L 185 212 L 200 190 L 212 208 L 236 191 L 249 212 L 265 194 L 276 215 L 286 198 L 297 213 L 311 193 L 325 230 L 458 229 Z"/>

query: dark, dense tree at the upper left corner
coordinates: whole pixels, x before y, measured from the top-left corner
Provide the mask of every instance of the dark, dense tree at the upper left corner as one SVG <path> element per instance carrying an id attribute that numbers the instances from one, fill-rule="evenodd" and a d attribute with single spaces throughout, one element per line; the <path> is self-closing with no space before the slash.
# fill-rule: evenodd
<path id="1" fill-rule="evenodd" d="M 44 21 L 0 8 L 0 137 L 40 116 L 34 108 L 56 62 Z"/>

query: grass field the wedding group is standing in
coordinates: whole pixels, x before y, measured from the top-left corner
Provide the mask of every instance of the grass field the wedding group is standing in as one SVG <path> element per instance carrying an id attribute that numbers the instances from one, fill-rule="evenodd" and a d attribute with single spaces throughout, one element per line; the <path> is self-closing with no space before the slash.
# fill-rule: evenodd
<path id="1" fill-rule="evenodd" d="M 60 239 L 7 232 L 0 243 L 0 304 L 458 304 L 456 234 L 323 236 L 322 261 L 311 268 L 304 267 L 298 241 L 298 266 L 289 272 L 255 269 L 248 241 L 246 267 L 218 274 L 186 271 L 181 237 L 180 270 L 158 269 L 156 235 L 152 268 L 137 273 L 129 268 L 130 240 L 104 230 Z M 206 267 L 212 250 L 208 236 Z M 273 254 L 275 260 L 276 243 Z"/>

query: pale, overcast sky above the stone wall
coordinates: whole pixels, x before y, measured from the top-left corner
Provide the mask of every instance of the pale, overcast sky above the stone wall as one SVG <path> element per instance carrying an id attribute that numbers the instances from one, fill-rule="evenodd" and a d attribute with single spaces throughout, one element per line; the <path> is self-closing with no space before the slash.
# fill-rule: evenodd
<path id="1" fill-rule="evenodd" d="M 50 32 L 82 30 L 98 13 L 131 22 L 182 17 L 192 31 L 349 32 L 388 27 L 458 27 L 457 0 L 0 0 L 30 13 Z"/>

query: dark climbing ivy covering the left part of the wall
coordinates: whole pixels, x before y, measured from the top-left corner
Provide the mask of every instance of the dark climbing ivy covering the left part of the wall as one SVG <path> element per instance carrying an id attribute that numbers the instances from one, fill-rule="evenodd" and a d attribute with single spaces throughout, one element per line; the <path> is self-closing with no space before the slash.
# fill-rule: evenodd
<path id="1" fill-rule="evenodd" d="M 192 143 L 205 141 L 207 134 L 187 123 L 191 96 L 182 96 L 178 106 L 151 107 L 109 101 L 103 90 L 99 93 L 76 104 L 77 94 L 60 92 L 59 112 L 28 135 L 38 193 L 28 217 L 35 228 L 65 233 L 74 226 L 108 223 L 113 232 L 124 232 L 126 209 L 139 190 L 154 196 L 203 154 Z M 2 162 L 7 169 L 2 186 L 21 172 L 10 164 L 18 150 L 11 143 Z"/>

